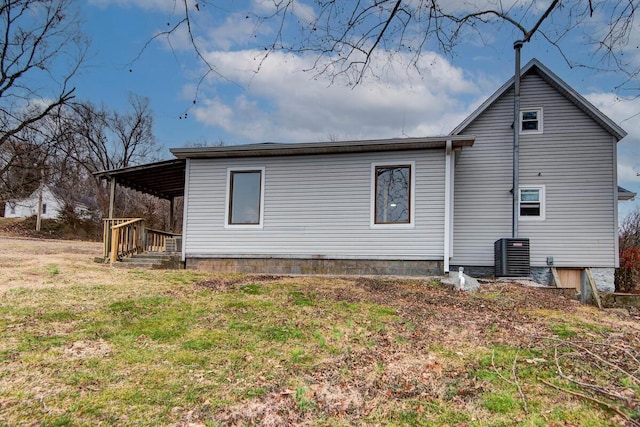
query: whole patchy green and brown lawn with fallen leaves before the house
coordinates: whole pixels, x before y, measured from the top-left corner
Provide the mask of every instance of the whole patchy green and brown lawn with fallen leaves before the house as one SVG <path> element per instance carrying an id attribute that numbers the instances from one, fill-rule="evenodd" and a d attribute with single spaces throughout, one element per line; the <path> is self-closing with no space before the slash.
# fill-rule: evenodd
<path id="1" fill-rule="evenodd" d="M 638 425 L 640 320 L 436 279 L 112 269 L 0 237 L 0 425 Z"/>

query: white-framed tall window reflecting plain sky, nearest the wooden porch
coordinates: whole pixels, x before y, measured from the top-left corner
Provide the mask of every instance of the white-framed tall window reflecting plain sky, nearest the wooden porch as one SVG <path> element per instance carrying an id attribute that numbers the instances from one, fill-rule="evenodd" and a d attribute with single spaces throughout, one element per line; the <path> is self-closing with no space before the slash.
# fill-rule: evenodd
<path id="1" fill-rule="evenodd" d="M 262 228 L 264 168 L 227 169 L 225 227 Z"/>

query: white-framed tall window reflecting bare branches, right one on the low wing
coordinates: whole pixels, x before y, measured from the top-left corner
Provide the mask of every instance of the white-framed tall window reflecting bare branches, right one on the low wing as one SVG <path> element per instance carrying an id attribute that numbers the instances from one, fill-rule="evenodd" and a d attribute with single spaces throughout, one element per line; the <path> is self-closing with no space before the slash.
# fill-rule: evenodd
<path id="1" fill-rule="evenodd" d="M 371 165 L 371 227 L 413 227 L 415 162 Z"/>

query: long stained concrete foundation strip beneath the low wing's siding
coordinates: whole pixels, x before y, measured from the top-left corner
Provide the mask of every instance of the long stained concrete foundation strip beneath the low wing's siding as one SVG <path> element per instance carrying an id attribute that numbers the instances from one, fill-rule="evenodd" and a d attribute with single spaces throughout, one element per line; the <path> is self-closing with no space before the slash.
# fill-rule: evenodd
<path id="1" fill-rule="evenodd" d="M 442 261 L 326 258 L 187 258 L 187 269 L 219 273 L 437 276 Z"/>

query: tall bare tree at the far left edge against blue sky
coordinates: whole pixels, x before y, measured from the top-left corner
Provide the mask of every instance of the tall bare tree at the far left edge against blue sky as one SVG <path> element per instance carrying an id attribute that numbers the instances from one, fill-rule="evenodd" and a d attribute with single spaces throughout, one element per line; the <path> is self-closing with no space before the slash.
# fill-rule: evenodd
<path id="1" fill-rule="evenodd" d="M 72 0 L 0 4 L 0 202 L 44 167 L 55 144 L 45 122 L 73 99 L 87 48 Z"/>

